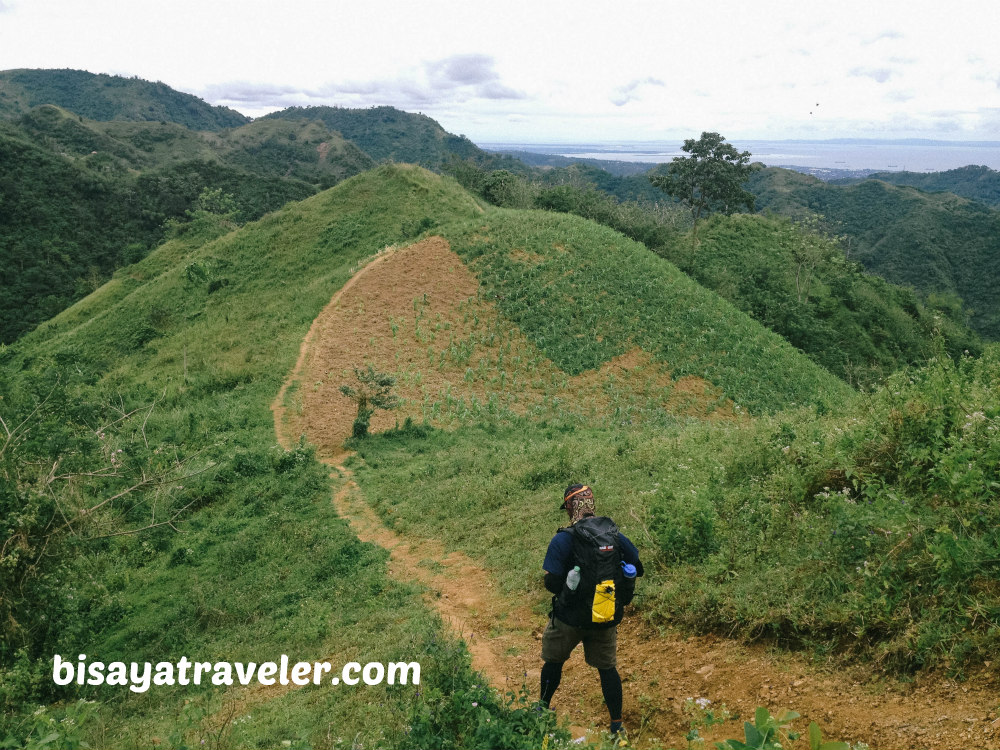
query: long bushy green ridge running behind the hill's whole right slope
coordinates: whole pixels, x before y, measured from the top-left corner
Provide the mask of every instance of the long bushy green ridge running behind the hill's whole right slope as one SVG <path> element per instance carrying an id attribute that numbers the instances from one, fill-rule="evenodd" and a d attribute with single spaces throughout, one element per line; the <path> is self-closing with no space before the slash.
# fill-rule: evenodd
<path id="1" fill-rule="evenodd" d="M 814 218 L 714 216 L 696 239 L 690 213 L 677 204 L 621 202 L 602 192 L 602 183 L 588 184 L 587 174 L 577 167 L 550 170 L 535 182 L 508 170 L 456 171 L 463 185 L 497 205 L 582 216 L 642 242 L 855 386 L 925 361 L 934 331 L 952 355 L 981 348 L 954 299 L 921 299 L 866 272 L 848 257 L 850 246 Z M 565 181 L 549 184 L 559 179 Z"/>

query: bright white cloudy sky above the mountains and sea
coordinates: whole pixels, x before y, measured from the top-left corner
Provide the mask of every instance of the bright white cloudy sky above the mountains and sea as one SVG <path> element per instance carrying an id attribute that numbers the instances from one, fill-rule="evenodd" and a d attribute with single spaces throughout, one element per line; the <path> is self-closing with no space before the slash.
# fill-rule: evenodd
<path id="1" fill-rule="evenodd" d="M 478 142 L 1000 140 L 996 0 L 0 0 L 0 69 L 250 116 L 390 104 Z"/>

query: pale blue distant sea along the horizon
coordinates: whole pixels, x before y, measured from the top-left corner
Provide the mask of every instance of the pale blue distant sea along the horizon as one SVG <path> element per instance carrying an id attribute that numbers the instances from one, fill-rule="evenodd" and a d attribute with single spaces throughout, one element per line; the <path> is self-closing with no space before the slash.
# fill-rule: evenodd
<path id="1" fill-rule="evenodd" d="M 877 172 L 943 172 L 969 164 L 1000 170 L 1000 141 L 862 140 L 732 141 L 769 167 Z M 577 159 L 659 164 L 686 156 L 677 142 L 479 144 L 490 151 L 529 151 Z"/>

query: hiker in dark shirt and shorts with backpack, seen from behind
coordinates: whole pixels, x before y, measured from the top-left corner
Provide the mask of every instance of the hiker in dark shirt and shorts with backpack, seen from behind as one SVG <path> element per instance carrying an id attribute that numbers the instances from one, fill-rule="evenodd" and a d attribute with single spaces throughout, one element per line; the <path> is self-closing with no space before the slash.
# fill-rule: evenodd
<path id="1" fill-rule="evenodd" d="M 569 514 L 570 525 L 552 537 L 542 564 L 545 588 L 553 597 L 542 634 L 541 702 L 549 706 L 562 679 L 563 663 L 582 641 L 585 661 L 601 677 L 611 734 L 618 735 L 622 732 L 622 681 L 616 658 L 617 626 L 624 606 L 632 601 L 635 579 L 643 573 L 639 551 L 614 521 L 595 515 L 594 492 L 589 486 L 571 484 L 559 507 Z M 579 582 L 574 587 L 577 574 L 569 574 L 577 566 Z"/>

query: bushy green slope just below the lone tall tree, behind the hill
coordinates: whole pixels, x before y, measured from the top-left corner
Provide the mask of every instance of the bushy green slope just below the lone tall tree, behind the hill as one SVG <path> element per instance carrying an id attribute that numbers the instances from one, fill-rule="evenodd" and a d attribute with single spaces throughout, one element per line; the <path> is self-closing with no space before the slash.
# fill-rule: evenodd
<path id="1" fill-rule="evenodd" d="M 815 220 L 716 216 L 697 250 L 676 242 L 660 252 L 855 386 L 926 361 L 936 331 L 953 356 L 981 351 L 967 328 L 849 261 Z"/>

